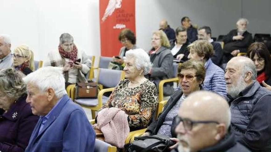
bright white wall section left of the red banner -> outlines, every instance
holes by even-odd
[[[0,14],[0,33],[10,35],[11,49],[29,45],[35,60],[57,49],[64,32],[87,54],[100,54],[98,0],[1,0]]]

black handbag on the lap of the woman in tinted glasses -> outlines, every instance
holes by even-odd
[[[169,147],[176,142],[168,136],[157,134],[154,136],[135,137],[135,141],[129,146],[129,152],[169,152]]]

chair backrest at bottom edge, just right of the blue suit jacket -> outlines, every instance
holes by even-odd
[[[110,144],[103,142],[99,139],[95,139],[94,152],[116,152],[117,147],[111,146]]]

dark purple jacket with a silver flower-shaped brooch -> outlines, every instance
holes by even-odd
[[[22,95],[9,111],[0,115],[0,151],[23,152],[38,122]]]

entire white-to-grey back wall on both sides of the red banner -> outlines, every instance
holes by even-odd
[[[123,0],[124,1],[124,0]],[[270,33],[269,0],[136,0],[137,45],[148,51],[152,31],[166,18],[173,29],[183,16],[198,26],[209,25],[217,37],[248,18],[249,32]],[[59,36],[71,33],[75,44],[89,55],[100,55],[99,0],[1,0],[0,33],[9,34],[12,50],[27,44],[35,60],[57,49]]]

